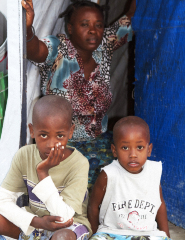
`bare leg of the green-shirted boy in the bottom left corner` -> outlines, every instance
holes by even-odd
[[[0,223],[0,235],[5,235],[15,239],[19,238],[19,234],[21,232],[20,229],[2,215],[0,215]]]

